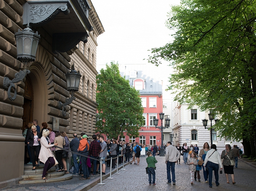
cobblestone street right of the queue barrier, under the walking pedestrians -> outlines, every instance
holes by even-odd
[[[205,190],[217,190],[217,191],[255,191],[255,168],[251,168],[249,165],[240,162],[238,168],[234,168],[235,182],[232,184],[232,179],[229,177],[230,184],[226,183],[226,177],[224,174],[219,174],[219,183],[217,187],[215,185],[215,178],[213,175],[213,186],[209,188],[209,183],[205,183],[203,178],[203,170],[200,171],[201,182],[196,181],[194,185],[190,184],[190,174],[188,171],[188,165],[181,159],[181,164],[175,165],[175,177],[176,185],[166,184],[166,164],[164,163],[165,157],[156,156],[158,163],[156,164],[156,185],[149,185],[148,175],[146,174],[145,167],[147,166],[146,157],[140,157],[140,165],[128,165],[126,170],[121,170],[120,174],[114,174],[114,179],[103,180],[106,185],[96,185],[89,191],[104,191],[104,190],[121,190],[121,191],[166,191],[166,190],[178,190],[178,191],[205,191]],[[230,175],[229,175],[230,176]]]

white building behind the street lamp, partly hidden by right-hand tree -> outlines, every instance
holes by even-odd
[[[202,112],[198,109],[197,106],[194,106],[193,109],[188,109],[188,104],[178,104],[174,102],[173,109],[173,127],[172,132],[174,134],[173,145],[180,143],[182,146],[183,143],[197,144],[199,149],[203,148],[203,144],[210,141],[210,129],[205,129],[202,123],[202,119],[208,119],[207,127],[211,126],[211,121],[208,117],[208,112]],[[215,121],[212,120],[212,126],[214,126]],[[176,137],[177,134],[177,137]],[[236,144],[238,147],[242,146],[240,143],[232,142],[229,137],[218,137],[218,131],[213,130],[213,144],[217,145],[219,153],[225,149],[225,144],[230,144],[233,148],[233,145]]]

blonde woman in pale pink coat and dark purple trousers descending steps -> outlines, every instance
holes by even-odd
[[[47,171],[53,167],[56,163],[56,159],[50,150],[51,147],[57,146],[58,143],[51,144],[50,139],[47,137],[49,135],[49,130],[44,129],[42,132],[42,137],[41,137],[41,149],[39,153],[39,159],[41,162],[44,163],[44,170],[43,170],[43,175],[42,179],[47,180],[45,176],[47,176]]]

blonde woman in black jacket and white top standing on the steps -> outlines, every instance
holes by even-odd
[[[31,122],[30,122],[31,123]],[[32,123],[33,124],[33,123]],[[33,164],[33,169],[36,169],[36,165],[39,166],[38,164],[38,156],[40,152],[40,132],[37,132],[36,126],[32,125],[31,129],[28,129],[28,134],[26,136],[26,143],[29,145],[30,153],[31,153],[31,158],[32,158],[32,164]],[[36,156],[35,156],[35,151],[36,151]]]

